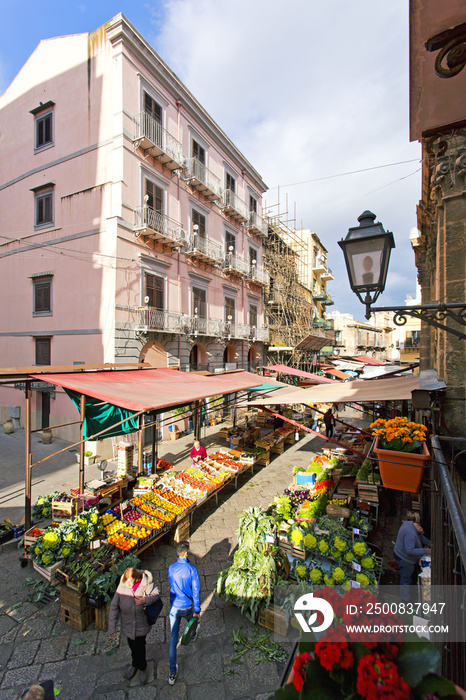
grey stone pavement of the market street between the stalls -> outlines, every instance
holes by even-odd
[[[345,417],[346,420],[346,417]],[[218,428],[205,429],[202,442],[206,447],[225,448],[217,442]],[[24,443],[19,439],[22,431],[12,436],[0,435],[0,454],[7,454],[10,468],[21,463]],[[13,436],[13,437],[14,437]],[[8,451],[3,443],[9,440]],[[24,440],[24,435],[23,435]],[[49,446],[35,445],[38,450],[57,449],[62,441],[54,440]],[[192,436],[176,442],[163,443],[160,456],[186,467]],[[63,443],[64,445],[66,443]],[[3,571],[7,575],[0,580],[0,698],[17,700],[21,692],[38,680],[53,678],[60,689],[60,700],[137,700],[160,697],[164,700],[266,700],[277,687],[283,664],[261,663],[256,665],[253,656],[246,655],[243,663],[231,664],[234,652],[232,631],[243,625],[243,630],[253,625],[239,610],[215,593],[215,583],[220,570],[229,566],[236,546],[238,515],[251,505],[267,506],[274,496],[283,492],[291,482],[294,465],[307,465],[318,454],[325,441],[308,435],[288,447],[268,467],[248,471],[238,478],[238,489],[230,483],[219,494],[218,506],[212,498],[195,511],[191,530],[191,561],[197,567],[201,579],[201,602],[204,611],[201,629],[196,642],[179,648],[179,675],[174,686],[168,678],[168,566],[176,554],[165,538],[142,554],[142,566],[152,571],[154,580],[162,591],[165,607],[162,615],[147,637],[149,680],[146,686],[139,684],[139,674],[131,682],[123,680],[123,672],[129,665],[130,652],[125,639],[117,641],[95,629],[94,623],[84,632],[77,632],[60,622],[59,603],[51,602],[38,608],[25,602],[27,591],[22,587],[26,577],[40,579],[32,568],[22,569],[18,551],[14,545],[4,545],[0,554]],[[16,456],[14,453],[16,445]],[[53,449],[52,449],[53,448]],[[37,485],[33,498],[58,488],[74,486],[77,480],[77,464],[68,452],[54,458],[61,460],[50,473],[35,475]],[[47,463],[45,463],[47,464]],[[92,469],[92,468],[91,468]],[[2,478],[5,469],[2,469]],[[90,477],[93,476],[91,473]],[[11,477],[6,488],[0,489],[0,504],[6,498],[18,499],[22,488],[18,474]],[[23,496],[24,497],[24,496]],[[10,500],[8,500],[10,499]],[[20,503],[20,502],[19,502]],[[19,503],[15,505],[20,508]],[[7,506],[8,507],[8,506]],[[2,517],[4,515],[2,514]],[[167,540],[167,541],[165,541]],[[283,639],[288,652],[291,641]]]

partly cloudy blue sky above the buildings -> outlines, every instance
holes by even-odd
[[[0,94],[41,39],[118,12],[261,174],[270,211],[319,236],[335,278],[328,311],[364,318],[337,241],[366,209],[396,242],[377,305],[415,294],[421,148],[409,142],[406,0],[0,0]]]

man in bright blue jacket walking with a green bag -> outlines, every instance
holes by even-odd
[[[176,546],[178,561],[168,569],[168,581],[170,583],[170,674],[169,685],[174,685],[178,673],[176,663],[176,647],[180,633],[181,618],[188,622],[191,618],[201,618],[201,600],[199,574],[195,567],[189,563],[189,543],[180,542]]]

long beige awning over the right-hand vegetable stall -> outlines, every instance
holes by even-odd
[[[255,405],[268,406],[274,403],[345,403],[356,401],[401,401],[411,399],[411,392],[421,389],[419,377],[394,377],[393,379],[378,379],[376,381],[355,380],[353,382],[338,382],[337,384],[322,384],[307,389],[290,392],[280,390],[275,398],[263,399]]]

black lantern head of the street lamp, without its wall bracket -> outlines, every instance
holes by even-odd
[[[345,240],[338,241],[338,245],[345,255],[351,289],[366,305],[366,318],[370,318],[371,305],[385,289],[395,241],[391,231],[385,231],[380,222],[375,223],[375,214],[371,211],[363,212],[358,221],[359,226],[350,228]]]

